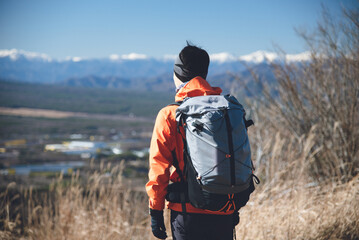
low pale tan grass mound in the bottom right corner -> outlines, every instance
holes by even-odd
[[[241,210],[237,239],[359,239],[359,181],[264,186]]]

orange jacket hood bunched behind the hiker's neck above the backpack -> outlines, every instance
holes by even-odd
[[[195,77],[177,92],[175,101],[183,101],[186,97],[219,95],[221,93],[221,88],[211,87],[211,85],[209,85],[209,83],[202,77]]]

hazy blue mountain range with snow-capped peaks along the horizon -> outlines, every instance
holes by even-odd
[[[66,86],[120,88],[167,91],[173,89],[173,63],[176,56],[151,58],[143,54],[110,55],[101,59],[69,57],[58,60],[46,54],[11,49],[0,50],[0,80]],[[272,78],[271,62],[285,59],[290,62],[309,60],[309,53],[278,56],[257,51],[236,57],[229,53],[210,55],[208,80],[229,90],[232,85],[228,72],[248,78],[251,67]]]

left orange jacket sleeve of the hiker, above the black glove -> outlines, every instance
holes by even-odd
[[[155,210],[162,210],[165,206],[170,167],[172,166],[171,150],[175,147],[175,137],[171,134],[173,120],[169,109],[162,109],[158,113],[152,134],[149,181],[146,184],[146,191],[149,197],[149,207]]]

